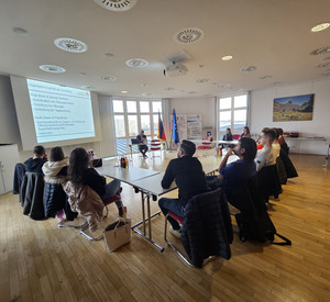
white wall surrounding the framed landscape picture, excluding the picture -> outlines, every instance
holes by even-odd
[[[292,96],[315,93],[312,121],[273,122],[273,100]],[[265,127],[282,127],[298,131],[299,136],[330,137],[330,80],[309,81],[251,92],[251,132],[260,133]],[[297,153],[326,154],[326,142],[292,142],[292,150]]]

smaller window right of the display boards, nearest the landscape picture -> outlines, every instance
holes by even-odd
[[[222,137],[226,128],[233,134],[241,134],[246,125],[248,94],[219,99],[219,127],[218,136]]]

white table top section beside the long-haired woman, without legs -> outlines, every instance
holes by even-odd
[[[120,181],[123,181],[123,182],[127,182],[130,184],[134,180],[147,178],[150,176],[160,174],[158,171],[147,170],[147,169],[143,169],[143,168],[136,168],[136,167],[131,167],[131,166],[129,168],[114,167],[111,164],[96,168],[96,170],[100,175],[116,178]]]

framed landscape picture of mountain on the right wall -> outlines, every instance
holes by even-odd
[[[274,99],[273,122],[311,121],[314,94]]]

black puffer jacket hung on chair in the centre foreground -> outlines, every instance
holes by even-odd
[[[233,232],[223,191],[194,197],[185,208],[182,230],[184,247],[196,267],[201,267],[209,256],[230,259]]]

